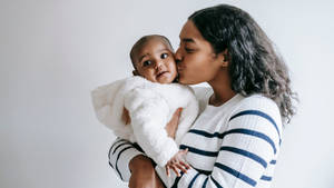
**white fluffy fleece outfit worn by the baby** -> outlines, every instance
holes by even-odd
[[[198,115],[198,102],[188,86],[161,85],[143,77],[130,77],[98,87],[91,92],[98,120],[120,138],[138,142],[147,156],[164,167],[179,150],[178,144]],[[183,108],[175,140],[165,126],[178,108]],[[125,125],[126,108],[131,118]]]

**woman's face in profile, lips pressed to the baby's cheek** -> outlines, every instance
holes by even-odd
[[[214,53],[212,44],[203,38],[193,21],[185,23],[179,38],[180,44],[175,53],[179,82],[196,85],[213,80],[220,69],[220,58]]]

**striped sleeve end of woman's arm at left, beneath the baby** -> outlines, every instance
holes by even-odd
[[[108,155],[109,165],[122,181],[129,181],[131,172],[128,166],[130,160],[138,155],[145,154],[125,139],[117,138],[111,145]]]

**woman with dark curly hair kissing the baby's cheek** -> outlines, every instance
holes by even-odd
[[[180,145],[191,168],[168,187],[269,187],[283,123],[294,115],[285,63],[253,18],[232,6],[196,11],[179,38],[179,82],[210,89],[196,90],[202,113]],[[163,187],[150,159],[129,142],[116,140],[109,158],[129,187]]]

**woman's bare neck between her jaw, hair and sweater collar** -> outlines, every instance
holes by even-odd
[[[209,98],[209,105],[216,107],[222,106],[236,95],[230,88],[227,69],[222,69],[213,80],[208,81],[208,85],[210,85],[214,90],[213,96]]]

